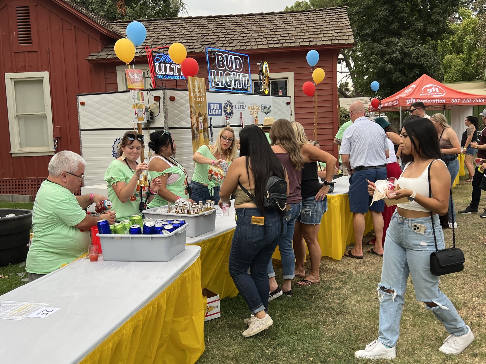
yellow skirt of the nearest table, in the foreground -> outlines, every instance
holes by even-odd
[[[204,352],[205,311],[198,259],[81,364],[193,364]]]

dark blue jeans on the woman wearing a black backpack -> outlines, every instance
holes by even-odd
[[[280,215],[277,211],[265,211],[264,227],[252,223],[255,216],[261,216],[256,208],[236,209],[236,229],[229,252],[229,275],[252,314],[267,311],[270,290],[267,266],[281,240]],[[283,223],[285,232],[285,218]]]

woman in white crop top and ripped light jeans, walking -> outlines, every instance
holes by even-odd
[[[417,300],[425,303],[426,309],[434,313],[450,334],[439,350],[445,354],[459,354],[474,340],[471,329],[451,300],[440,291],[439,277],[430,271],[434,236],[437,247],[444,248],[439,215],[447,213],[451,190],[449,178],[444,178],[449,176],[449,171],[441,160],[434,124],[423,117],[406,123],[401,130],[400,148],[413,157],[413,162],[407,163],[398,180],[401,189],[395,195],[387,193],[387,198],[408,198],[409,202],[397,205],[386,232],[382,279],[377,289],[380,299],[378,340],[356,351],[356,358],[396,357],[409,275],[412,275]],[[374,190],[375,184],[368,182],[370,196]]]

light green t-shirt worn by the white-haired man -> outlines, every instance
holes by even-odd
[[[34,238],[27,254],[27,272],[48,274],[87,253],[89,232],[74,227],[85,217],[86,211],[67,188],[42,182],[32,210]]]

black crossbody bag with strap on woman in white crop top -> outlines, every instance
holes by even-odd
[[[429,197],[432,198],[432,187],[430,183],[430,168],[429,165]],[[450,204],[452,208],[452,188],[450,193]],[[454,229],[454,214],[452,214],[452,248],[441,249],[437,248],[437,239],[435,237],[434,216],[432,211],[430,213],[432,219],[432,232],[434,233],[435,251],[430,254],[430,272],[434,276],[443,276],[444,274],[450,274],[455,272],[461,272],[464,270],[464,253],[461,249],[455,246],[455,229]]]

